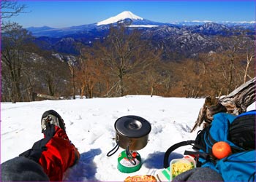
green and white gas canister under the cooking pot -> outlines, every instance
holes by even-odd
[[[140,154],[137,151],[134,151],[136,154],[133,159],[135,160],[136,164],[133,165],[131,162],[129,162],[129,158],[127,157],[127,154],[125,151],[122,151],[118,156],[118,170],[121,173],[133,173],[135,171],[140,170],[141,167],[141,157]],[[134,153],[133,152],[133,153]]]

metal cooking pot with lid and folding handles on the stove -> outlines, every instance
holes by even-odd
[[[127,156],[131,157],[129,151],[143,149],[148,143],[151,124],[140,116],[122,116],[116,120],[115,130],[116,146],[108,152],[107,156],[110,157],[115,154],[121,146],[121,148],[126,149]]]

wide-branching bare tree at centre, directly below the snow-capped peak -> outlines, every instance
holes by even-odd
[[[149,50],[138,31],[124,25],[110,27],[110,34],[103,44],[95,44],[94,51],[118,78],[118,95],[124,95],[124,78],[143,71],[151,60],[157,59],[155,50]]]

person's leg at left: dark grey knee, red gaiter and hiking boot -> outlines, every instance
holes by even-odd
[[[69,141],[64,121],[56,111],[50,110],[42,114],[41,126],[45,138],[34,143],[20,157],[4,162],[1,167],[2,181],[40,181],[41,175],[48,176],[47,180],[50,181],[62,181],[67,168],[78,162],[80,154]],[[37,167],[33,167],[34,165]],[[20,174],[22,178],[18,178]],[[42,181],[45,179],[42,178]]]

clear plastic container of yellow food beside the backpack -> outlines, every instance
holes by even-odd
[[[191,156],[185,156],[182,159],[173,159],[170,161],[170,181],[177,175],[196,167],[195,159]]]

